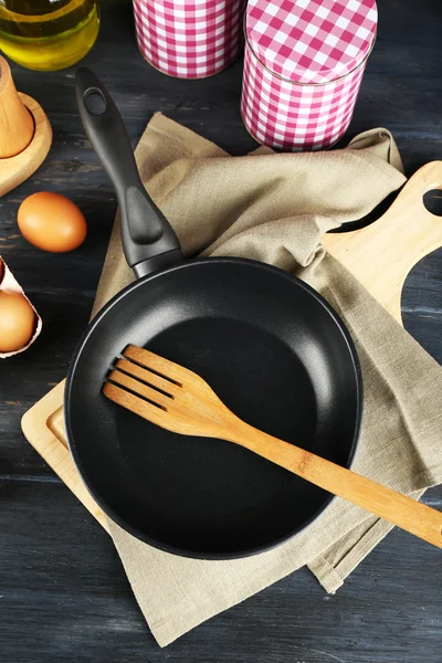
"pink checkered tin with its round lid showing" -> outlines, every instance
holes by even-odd
[[[249,0],[241,113],[250,134],[286,151],[337,143],[377,20],[375,0]]]

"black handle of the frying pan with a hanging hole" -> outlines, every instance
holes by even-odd
[[[128,265],[139,278],[179,262],[178,239],[141,182],[125,125],[106,87],[91,70],[81,67],[75,93],[87,138],[117,193]]]

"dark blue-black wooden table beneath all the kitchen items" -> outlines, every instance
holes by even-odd
[[[379,0],[380,29],[349,135],[392,130],[407,173],[442,158],[440,0]],[[206,81],[175,81],[139,55],[129,0],[102,2],[85,59],[109,86],[134,145],[155,110],[234,155],[254,147],[239,113],[242,63]],[[0,660],[186,663],[439,663],[441,555],[394,530],[327,596],[305,569],[158,648],[110,538],[24,440],[23,412],[66,372],[87,323],[116,208],[76,113],[74,70],[13,66],[19,90],[48,112],[53,147],[42,168],[0,201],[0,253],[44,319],[25,354],[0,366]],[[19,234],[20,202],[39,190],[71,197],[88,219],[81,250],[51,255]],[[441,220],[442,222],[442,220]],[[376,256],[373,256],[376,260]],[[409,332],[442,360],[442,251],[410,274]],[[424,501],[441,508],[442,491]]]

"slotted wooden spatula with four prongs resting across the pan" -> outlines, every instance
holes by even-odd
[[[183,435],[219,438],[442,548],[442,514],[370,478],[267,435],[231,412],[191,370],[128,346],[104,385],[105,396],[147,421]]]

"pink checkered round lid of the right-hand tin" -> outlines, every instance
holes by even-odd
[[[269,70],[295,83],[349,74],[372,46],[376,0],[249,0],[245,34]]]

